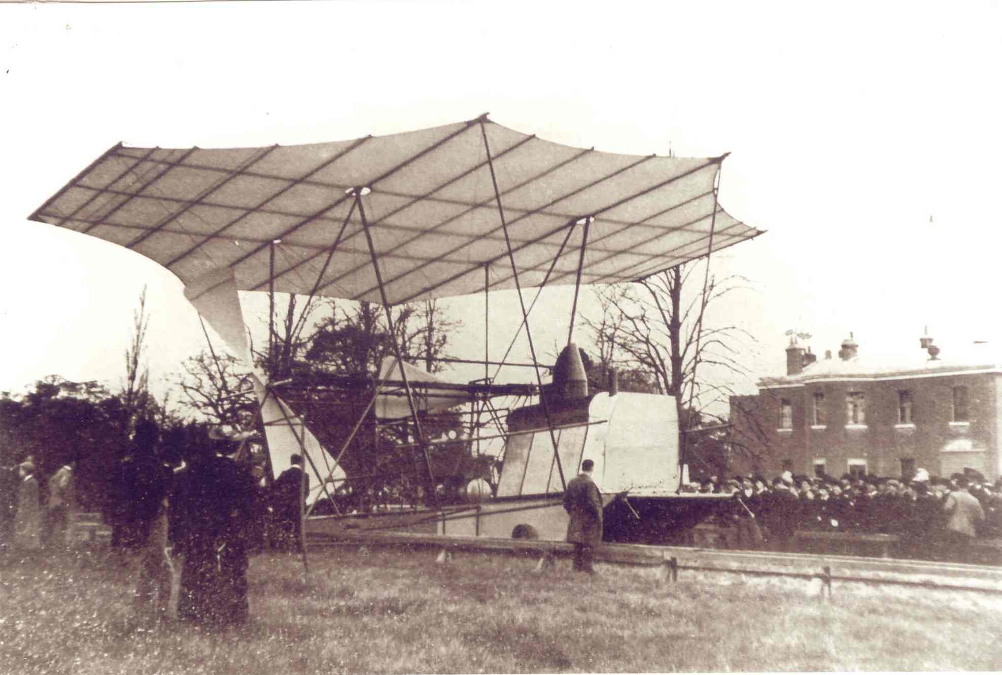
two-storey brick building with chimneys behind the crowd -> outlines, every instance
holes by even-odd
[[[994,480],[1002,361],[985,344],[940,358],[932,342],[890,363],[861,356],[852,336],[823,359],[795,338],[785,376],[730,399],[731,438],[747,452],[732,451],[728,471],[911,477],[970,467]]]

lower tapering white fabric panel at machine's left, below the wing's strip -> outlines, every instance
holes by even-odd
[[[273,477],[278,477],[292,466],[291,457],[294,454],[309,456],[317,468],[326,473],[328,462],[333,462],[333,458],[324,456],[325,450],[320,441],[285,401],[274,393],[268,394],[263,377],[263,374],[250,375],[255,395],[262,406],[261,416],[265,423],[265,435],[268,437],[268,452],[272,458],[272,469],[275,471]],[[306,456],[303,459],[303,468],[313,472],[313,467]],[[317,477],[315,474],[316,479],[312,482],[319,483],[324,477],[327,476]],[[334,477],[336,479],[346,477],[340,465],[334,467]]]

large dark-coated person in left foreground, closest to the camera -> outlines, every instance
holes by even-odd
[[[217,454],[229,441],[190,446],[187,468],[170,497],[170,541],[184,555],[177,618],[210,626],[247,618],[245,530],[254,517],[255,479],[248,467]]]

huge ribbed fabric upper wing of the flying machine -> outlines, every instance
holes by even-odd
[[[379,302],[375,253],[398,304],[481,292],[485,267],[488,290],[514,288],[509,242],[522,286],[573,284],[586,218],[584,284],[755,237],[715,199],[721,160],[569,147],[486,117],[306,145],[118,144],[31,219],[136,251],[185,285],[229,268],[244,291],[267,291],[274,270],[277,291]]]

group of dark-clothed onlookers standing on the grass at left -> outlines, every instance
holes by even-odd
[[[302,459],[269,485],[238,443],[139,420],[109,475],[103,518],[111,555],[134,581],[133,617],[148,629],[166,618],[174,570],[178,620],[239,624],[248,613],[248,555],[298,549],[307,478]],[[0,551],[45,555],[72,544],[73,464],[40,486],[31,456],[0,466]],[[267,525],[266,525],[267,524]]]

